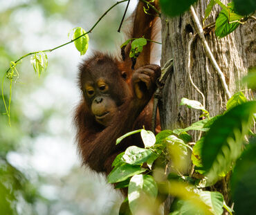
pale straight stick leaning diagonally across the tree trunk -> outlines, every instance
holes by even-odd
[[[226,96],[228,97],[228,99],[230,99],[231,94],[230,94],[230,91],[228,90],[228,85],[226,84],[225,76],[222,73],[221,68],[219,68],[219,65],[217,64],[216,60],[214,59],[214,56],[212,55],[210,47],[209,47],[209,45],[208,45],[208,43],[207,43],[207,41],[204,37],[203,28],[200,24],[199,18],[196,15],[196,12],[194,11],[193,6],[190,6],[190,13],[192,15],[192,19],[194,21],[194,24],[196,25],[199,37],[201,38],[201,40],[203,42],[203,47],[205,49],[205,53],[210,58],[210,61],[212,62],[212,65],[214,66],[215,70],[217,71],[217,73],[219,75],[219,78],[221,80],[221,85],[223,87],[223,90],[224,90]]]

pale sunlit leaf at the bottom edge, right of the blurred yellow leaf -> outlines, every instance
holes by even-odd
[[[199,196],[206,205],[210,206],[213,214],[221,215],[223,213],[224,198],[221,193],[217,191],[202,191]]]

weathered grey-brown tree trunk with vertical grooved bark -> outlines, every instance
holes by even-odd
[[[194,10],[202,23],[204,11],[210,0],[199,0],[194,5]],[[222,1],[228,3],[228,1]],[[210,17],[206,19],[205,26],[216,21],[221,8],[214,6]],[[205,35],[210,50],[217,60],[221,71],[226,77],[226,83],[231,95],[242,89],[238,80],[247,73],[247,68],[255,66],[255,21],[240,26],[230,35],[219,39],[214,30]],[[181,99],[198,100],[203,104],[201,95],[192,86],[188,76],[188,42],[196,34],[196,27],[190,11],[175,18],[162,15],[162,59],[161,65],[169,59],[174,60],[174,69],[167,77],[163,88],[163,99],[159,107],[161,113],[161,128],[174,129],[188,127],[199,120],[200,111],[180,106]],[[190,73],[194,84],[205,95],[205,108],[210,116],[223,113],[226,110],[227,97],[221,86],[217,72],[214,70],[210,59],[206,57],[201,39],[195,37],[191,45]],[[245,92],[246,94],[246,92]],[[196,133],[191,133],[196,141]],[[224,193],[223,193],[224,192]],[[222,191],[228,200],[228,188]],[[167,205],[165,214],[168,214],[170,205]]]

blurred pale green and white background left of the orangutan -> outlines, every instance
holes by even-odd
[[[0,77],[10,61],[68,41],[68,32],[89,30],[116,1],[0,0]],[[136,1],[131,1],[129,13]],[[89,35],[89,51],[114,52],[125,3]],[[0,98],[0,214],[118,214],[122,197],[106,180],[80,166],[72,123],[79,101],[77,65],[84,57],[73,44],[48,55],[39,78],[30,57],[17,66],[12,88],[11,124]],[[6,79],[3,93],[9,97]]]

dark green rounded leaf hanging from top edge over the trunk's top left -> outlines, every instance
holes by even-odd
[[[176,17],[190,8],[197,0],[160,0],[161,10],[170,17]]]

